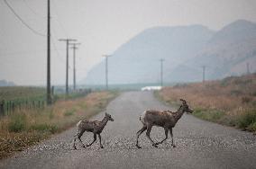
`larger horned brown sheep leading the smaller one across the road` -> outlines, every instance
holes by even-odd
[[[168,138],[168,131],[171,136],[171,146],[175,147],[173,142],[172,128],[175,127],[177,121],[181,118],[185,111],[192,113],[193,110],[188,108],[187,102],[183,99],[180,99],[182,102],[181,106],[178,108],[178,111],[144,111],[140,116],[140,120],[142,121],[143,127],[137,132],[137,142],[136,147],[142,148],[139,146],[138,139],[142,132],[147,129],[147,137],[151,140],[152,146],[157,147],[157,145],[162,144]],[[150,137],[151,128],[153,126],[159,126],[164,128],[165,130],[165,138],[160,142],[154,143]]]

